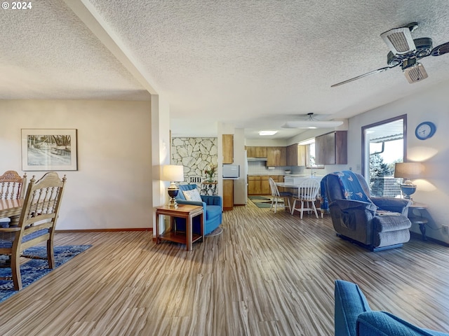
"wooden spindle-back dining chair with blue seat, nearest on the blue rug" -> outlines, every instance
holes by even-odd
[[[61,180],[55,172],[46,173],[39,181],[36,181],[33,176],[27,187],[18,225],[0,228],[0,254],[11,255],[12,273],[12,276],[0,279],[12,279],[15,290],[22,289],[20,257],[46,259],[48,260],[48,268],[55,267],[53,235],[65,181],[65,176]],[[26,248],[42,242],[46,242],[46,258],[22,254]]]

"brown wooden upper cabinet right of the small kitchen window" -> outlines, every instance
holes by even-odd
[[[315,138],[316,165],[347,165],[347,131],[335,131]]]

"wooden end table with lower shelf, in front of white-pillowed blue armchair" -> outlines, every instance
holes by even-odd
[[[159,216],[161,215],[170,216],[170,230],[163,235],[159,235]],[[192,222],[196,216],[201,216],[200,235],[192,233]],[[185,231],[176,229],[175,218],[185,218]],[[190,204],[178,204],[177,208],[156,207],[156,244],[160,244],[161,240],[174,241],[186,244],[187,251],[192,251],[192,244],[200,239],[204,241],[203,207]]]

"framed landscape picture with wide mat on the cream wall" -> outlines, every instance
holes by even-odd
[[[76,130],[22,129],[22,170],[78,170]]]

